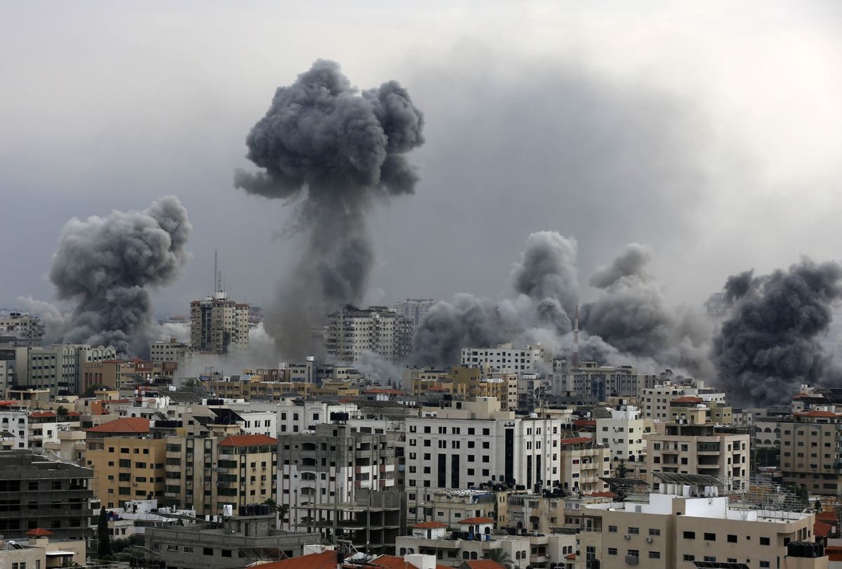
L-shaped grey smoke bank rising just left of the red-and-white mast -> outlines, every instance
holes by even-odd
[[[572,330],[578,297],[576,241],[552,231],[530,234],[509,276],[516,295],[500,303],[457,294],[428,311],[413,338],[413,362],[445,366],[459,362],[462,347],[507,341],[541,341],[553,352]]]

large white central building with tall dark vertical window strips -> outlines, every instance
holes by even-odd
[[[559,480],[559,440],[571,427],[568,419],[501,411],[499,401],[490,397],[425,407],[406,419],[407,490],[464,488],[488,480],[525,486]]]

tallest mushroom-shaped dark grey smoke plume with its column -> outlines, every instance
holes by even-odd
[[[335,62],[319,60],[275,91],[246,139],[264,171],[237,170],[250,194],[301,200],[296,229],[305,248],[269,323],[291,355],[303,355],[312,318],[360,303],[374,252],[366,212],[374,201],[412,194],[418,174],[404,157],[424,143],[424,115],[391,81],[359,92]]]

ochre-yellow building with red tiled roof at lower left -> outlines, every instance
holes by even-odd
[[[163,497],[166,446],[151,437],[148,419],[115,419],[86,432],[85,464],[93,469],[93,493],[104,507]]]

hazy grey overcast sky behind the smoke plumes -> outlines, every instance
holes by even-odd
[[[674,303],[728,275],[839,260],[835,2],[0,4],[0,307],[52,301],[72,217],[178,196],[194,229],[160,314],[266,304],[296,266],[292,208],[233,187],[274,89],[318,58],[424,111],[422,180],[372,212],[371,303],[498,298],[530,233],[589,276],[630,242]]]

